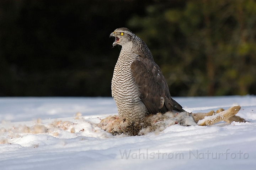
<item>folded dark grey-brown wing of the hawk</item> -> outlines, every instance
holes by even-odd
[[[159,66],[143,54],[138,55],[131,69],[140,88],[140,98],[149,113],[184,111],[182,106],[171,98],[169,87]]]

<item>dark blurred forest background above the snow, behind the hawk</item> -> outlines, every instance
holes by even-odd
[[[173,96],[256,94],[255,0],[0,0],[0,96],[111,96],[119,27]]]

